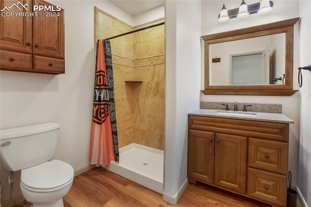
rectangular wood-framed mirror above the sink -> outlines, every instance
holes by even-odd
[[[201,36],[205,47],[202,93],[293,95],[297,91],[293,90],[294,24],[299,19]],[[252,73],[255,66],[260,71]]]

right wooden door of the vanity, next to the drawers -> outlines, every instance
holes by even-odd
[[[246,194],[247,137],[216,133],[214,184]]]

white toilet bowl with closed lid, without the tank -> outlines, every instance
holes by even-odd
[[[71,188],[73,175],[66,162],[44,162],[21,170],[20,190],[33,207],[63,207],[62,199]]]

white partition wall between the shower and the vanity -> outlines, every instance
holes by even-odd
[[[201,2],[166,1],[165,201],[175,204],[188,185],[188,112],[199,108]]]

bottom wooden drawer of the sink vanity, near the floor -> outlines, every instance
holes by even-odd
[[[248,168],[247,196],[286,207],[287,176]]]

